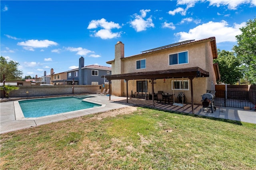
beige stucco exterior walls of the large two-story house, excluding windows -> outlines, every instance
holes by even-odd
[[[188,51],[188,64],[177,64],[169,66],[169,54]],[[123,74],[132,72],[148,72],[155,70],[169,70],[169,69],[179,69],[179,68],[190,68],[190,67],[200,67],[205,71],[208,71],[209,77],[194,78],[193,92],[194,92],[194,104],[202,104],[201,96],[206,93],[206,90],[212,89],[213,85],[216,84],[216,78],[213,68],[212,50],[210,45],[210,40],[199,41],[197,43],[192,43],[188,45],[180,45],[177,47],[172,47],[164,50],[154,51],[151,53],[144,53],[142,55],[126,57],[120,59],[121,57],[115,57],[114,63],[112,63],[112,74]],[[146,59],[145,69],[136,69],[136,61]],[[118,66],[117,66],[118,65]],[[121,69],[123,68],[123,69]],[[146,80],[146,79],[144,79]],[[172,90],[172,80],[182,80],[167,78],[164,83],[163,79],[155,80],[154,92],[164,91],[169,94],[175,94],[175,100],[182,90]],[[184,78],[183,80],[189,81],[189,90],[183,90],[187,102],[191,102],[191,86],[190,80]],[[131,91],[136,92],[136,82],[138,80],[128,81],[128,96],[130,96]],[[148,82],[148,92],[152,94],[152,84]],[[112,80],[112,95],[115,96],[126,96],[126,82],[124,80]]]

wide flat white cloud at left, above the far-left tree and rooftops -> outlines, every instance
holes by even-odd
[[[48,39],[45,40],[40,40],[38,41],[37,39],[30,39],[28,41],[22,41],[17,43],[17,45],[24,46],[23,48],[29,51],[34,51],[34,48],[47,48],[52,45],[58,45],[58,43],[54,41],[49,41]]]

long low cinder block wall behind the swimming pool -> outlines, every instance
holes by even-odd
[[[10,92],[9,94],[10,98],[73,94],[73,88],[70,85],[18,86],[18,87],[19,87],[18,90],[13,90]],[[96,94],[99,91],[100,91],[100,85],[75,85],[74,86],[74,94]]]

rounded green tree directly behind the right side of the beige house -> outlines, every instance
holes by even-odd
[[[225,84],[235,84],[239,78],[243,77],[242,70],[239,67],[240,61],[235,57],[234,52],[218,49],[218,59],[214,59],[214,63],[218,63],[220,70],[220,82]]]

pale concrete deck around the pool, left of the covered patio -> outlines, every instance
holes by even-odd
[[[86,98],[86,101],[100,103],[104,105],[104,107],[93,107],[86,110],[72,111],[68,113],[61,113],[58,115],[51,115],[51,116],[35,118],[35,119],[31,119],[31,118],[26,119],[26,118],[16,117],[17,114],[15,114],[15,110],[17,109],[14,109],[14,105],[15,103],[17,103],[17,101],[1,102],[0,103],[0,106],[1,106],[0,107],[0,133],[16,131],[16,130],[25,129],[28,127],[34,127],[38,125],[65,120],[65,119],[71,119],[74,117],[80,117],[80,116],[89,115],[93,113],[109,111],[112,109],[129,107],[128,105],[118,104],[114,102],[114,101],[126,99],[124,97],[111,96],[111,101],[109,101],[109,96],[99,96],[96,94],[90,94],[88,96],[94,96],[94,98]],[[17,120],[17,118],[20,120]]]

